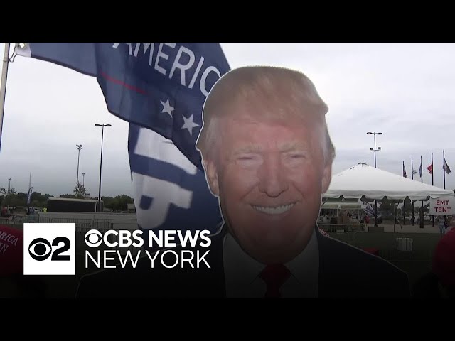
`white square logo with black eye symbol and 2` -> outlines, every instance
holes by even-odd
[[[23,224],[24,275],[75,275],[76,224]]]

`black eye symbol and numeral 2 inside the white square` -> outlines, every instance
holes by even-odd
[[[60,243],[63,243],[63,246],[58,247]],[[52,247],[58,247],[54,251]],[[65,251],[68,251],[71,247],[70,239],[66,237],[57,237],[53,239],[52,244],[47,239],[36,238],[31,241],[28,245],[28,254],[31,258],[36,261],[45,261],[52,254],[51,261],[70,261],[70,255],[63,255]]]

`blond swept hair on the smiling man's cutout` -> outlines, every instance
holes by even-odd
[[[218,136],[216,122],[223,117],[223,107],[241,102],[252,106],[251,114],[264,119],[286,119],[289,115],[311,116],[322,124],[324,161],[332,162],[335,148],[325,120],[328,106],[313,82],[304,73],[284,67],[239,67],[220,77],[210,90],[203,107],[203,127],[196,148],[203,158],[210,155]],[[277,111],[268,110],[271,103]]]

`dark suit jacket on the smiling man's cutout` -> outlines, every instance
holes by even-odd
[[[223,270],[224,233],[212,237],[205,259],[207,269],[166,269],[157,257],[154,268],[148,256],[133,269],[106,269],[81,278],[77,298],[225,298]],[[385,298],[410,297],[410,284],[405,272],[396,266],[331,237],[316,227],[319,243],[319,298]],[[180,254],[182,247],[173,248]],[[206,248],[200,247],[202,256]],[[166,264],[175,263],[169,255]],[[166,257],[165,257],[166,259]],[[129,264],[131,264],[129,262]],[[193,262],[196,264],[196,261]]]

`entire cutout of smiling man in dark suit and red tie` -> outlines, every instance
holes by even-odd
[[[240,67],[220,77],[196,142],[224,220],[210,237],[210,267],[150,269],[144,259],[136,269],[85,276],[78,296],[410,296],[403,271],[319,231],[335,156],[327,112],[296,70]]]

